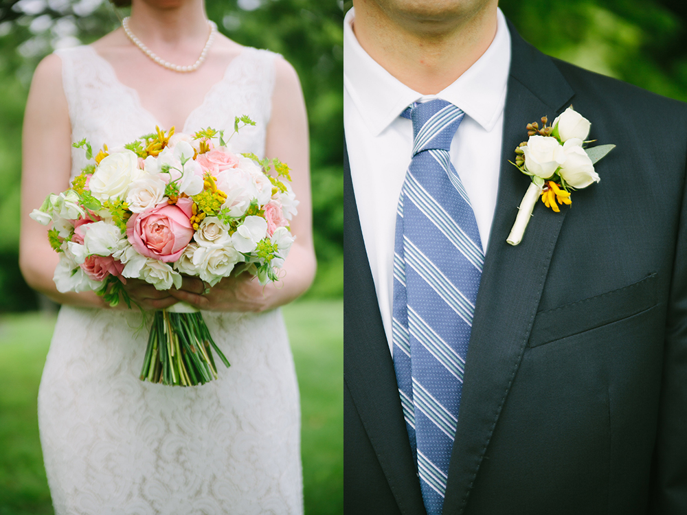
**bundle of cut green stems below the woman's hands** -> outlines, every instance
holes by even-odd
[[[200,312],[156,311],[141,380],[161,385],[204,385],[217,378],[213,349],[229,367],[229,361],[212,340]]]

